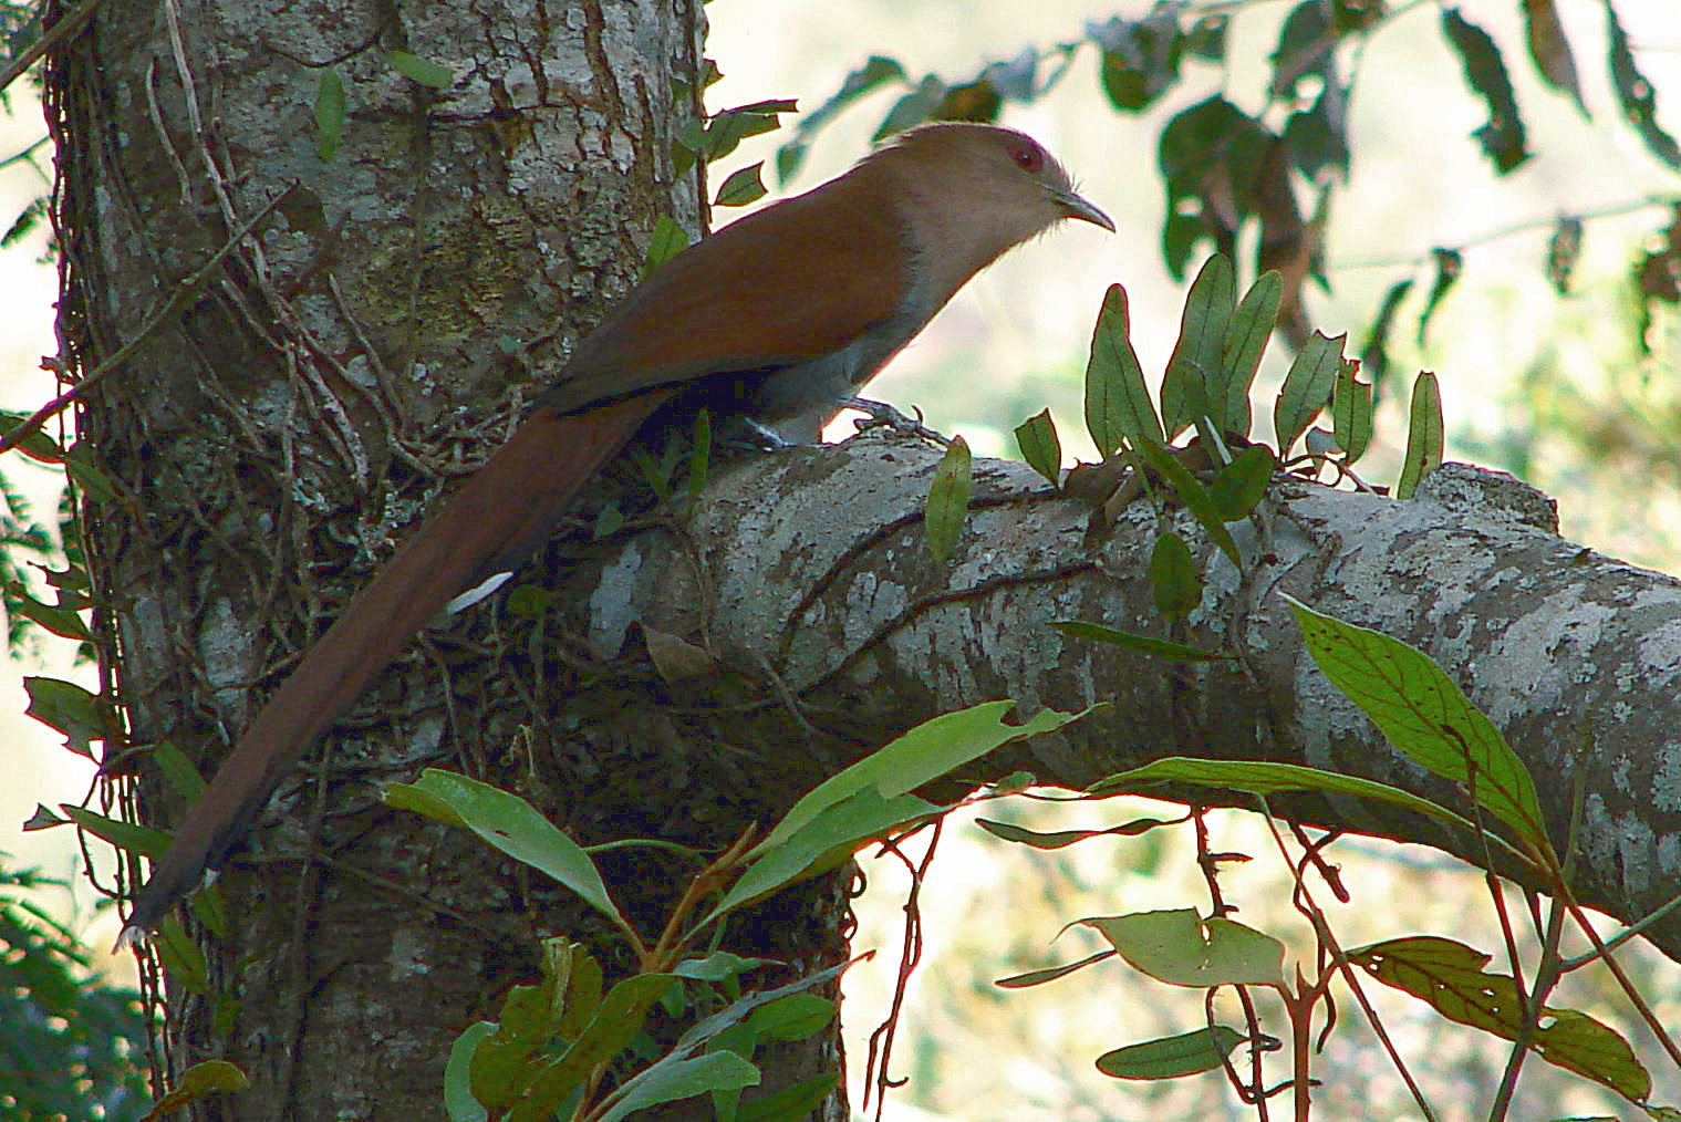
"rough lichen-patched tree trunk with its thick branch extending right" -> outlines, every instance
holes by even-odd
[[[170,741],[212,766],[627,287],[654,218],[698,222],[703,183],[671,153],[696,116],[699,20],[681,0],[335,0],[308,15],[109,0],[57,50],[61,334],[69,375],[101,371],[81,432],[113,492],[86,497],[84,532],[134,747]],[[412,81],[393,50],[447,67],[449,86]],[[343,139],[323,160],[335,82]],[[1042,627],[1150,627],[1148,519],[1093,546],[1083,511],[983,465],[941,569],[916,532],[928,465],[871,438],[719,470],[681,524],[634,519],[558,553],[535,620],[481,613],[417,643],[225,878],[234,922],[205,939],[208,993],[171,981],[171,1065],[245,1068],[256,1088],[213,1109],[225,1117],[440,1117],[454,1035],[531,974],[536,934],[595,924],[466,836],[377,806],[380,781],[429,763],[519,786],[585,840],[716,847],[926,716],[1017,697],[1120,704],[988,761],[1000,774],[1081,784],[1188,752],[1417,784],[1301,658],[1281,586],[1454,668],[1555,821],[1589,727],[1584,895],[1632,917],[1674,883],[1673,581],[1478,497],[1474,474],[1407,504],[1281,484],[1269,529],[1244,537],[1252,574],[1210,559],[1194,620],[1247,677],[1163,674]],[[627,642],[635,621],[740,674],[669,684]],[[143,816],[171,821],[180,800],[140,774]],[[1363,806],[1294,810],[1454,843]],[[649,858],[610,872],[646,922],[677,873]],[[830,880],[778,900],[735,949],[834,962],[842,894]],[[1674,920],[1657,937],[1681,949]],[[832,1067],[837,1046],[775,1058],[768,1085]]]

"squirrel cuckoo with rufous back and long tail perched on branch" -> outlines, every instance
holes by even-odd
[[[703,390],[815,438],[970,277],[1062,218],[1115,230],[1030,138],[945,123],[664,262],[308,650],[153,865],[118,947],[220,865],[286,768],[452,596],[494,590],[541,546],[661,405]]]

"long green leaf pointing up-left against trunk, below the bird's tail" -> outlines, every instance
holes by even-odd
[[[417,783],[393,783],[382,793],[387,806],[466,826],[493,847],[577,892],[620,929],[619,907],[607,895],[595,862],[577,842],[518,794],[451,771],[427,768]]]

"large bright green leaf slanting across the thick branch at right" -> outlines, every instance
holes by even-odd
[[[1518,838],[1548,852],[1535,781],[1499,729],[1441,667],[1400,640],[1286,596],[1313,660],[1414,763],[1466,784]]]

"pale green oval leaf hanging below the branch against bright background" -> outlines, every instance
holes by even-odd
[[[1096,927],[1133,969],[1170,986],[1284,984],[1284,944],[1232,919],[1182,907],[1078,922]]]

